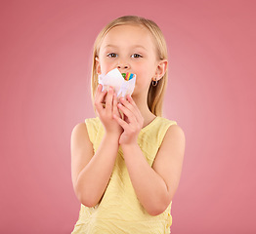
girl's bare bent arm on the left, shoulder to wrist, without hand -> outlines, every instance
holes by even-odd
[[[75,194],[83,205],[94,207],[101,200],[117,150],[118,138],[106,134],[94,154],[85,123],[74,127],[71,135],[72,182]]]

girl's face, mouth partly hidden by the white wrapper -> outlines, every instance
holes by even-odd
[[[118,68],[121,73],[135,73],[136,86],[133,96],[148,92],[152,78],[159,73],[159,59],[149,29],[141,25],[118,25],[105,36],[97,61],[97,73],[107,74]]]

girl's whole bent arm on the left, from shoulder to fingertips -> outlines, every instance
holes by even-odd
[[[103,101],[106,98],[106,108]],[[95,106],[105,127],[105,136],[94,154],[85,123],[74,127],[71,134],[71,171],[72,183],[78,200],[87,207],[94,207],[101,200],[111,176],[118,151],[120,126],[112,118],[118,115],[117,98],[113,90],[102,92],[98,87]]]

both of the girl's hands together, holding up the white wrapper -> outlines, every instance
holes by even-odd
[[[106,98],[106,107],[104,99]],[[117,103],[116,94],[112,88],[102,92],[102,85],[97,88],[95,107],[105,127],[107,135],[119,138],[119,144],[137,143],[137,138],[143,127],[144,118],[133,98],[128,95],[120,98]],[[123,113],[123,116],[120,114]]]

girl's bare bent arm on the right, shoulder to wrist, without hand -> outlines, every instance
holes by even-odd
[[[124,144],[122,149],[138,199],[149,215],[160,215],[179,185],[185,151],[182,129],[177,125],[168,129],[152,168],[138,144]]]

